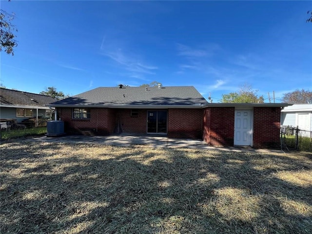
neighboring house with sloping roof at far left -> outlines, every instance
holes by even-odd
[[[20,123],[29,118],[50,117],[51,109],[46,104],[53,101],[54,98],[41,94],[0,88],[0,119],[15,119]]]

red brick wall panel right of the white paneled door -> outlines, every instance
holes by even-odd
[[[254,107],[254,148],[280,147],[279,107]]]

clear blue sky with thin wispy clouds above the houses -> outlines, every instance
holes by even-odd
[[[119,83],[193,85],[214,102],[248,83],[312,90],[312,1],[0,1],[16,14],[1,83],[76,95]]]

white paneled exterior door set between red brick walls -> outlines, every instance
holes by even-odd
[[[235,110],[234,145],[251,145],[251,110]]]

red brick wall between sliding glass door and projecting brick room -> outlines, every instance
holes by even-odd
[[[168,109],[168,137],[202,138],[202,109]]]

